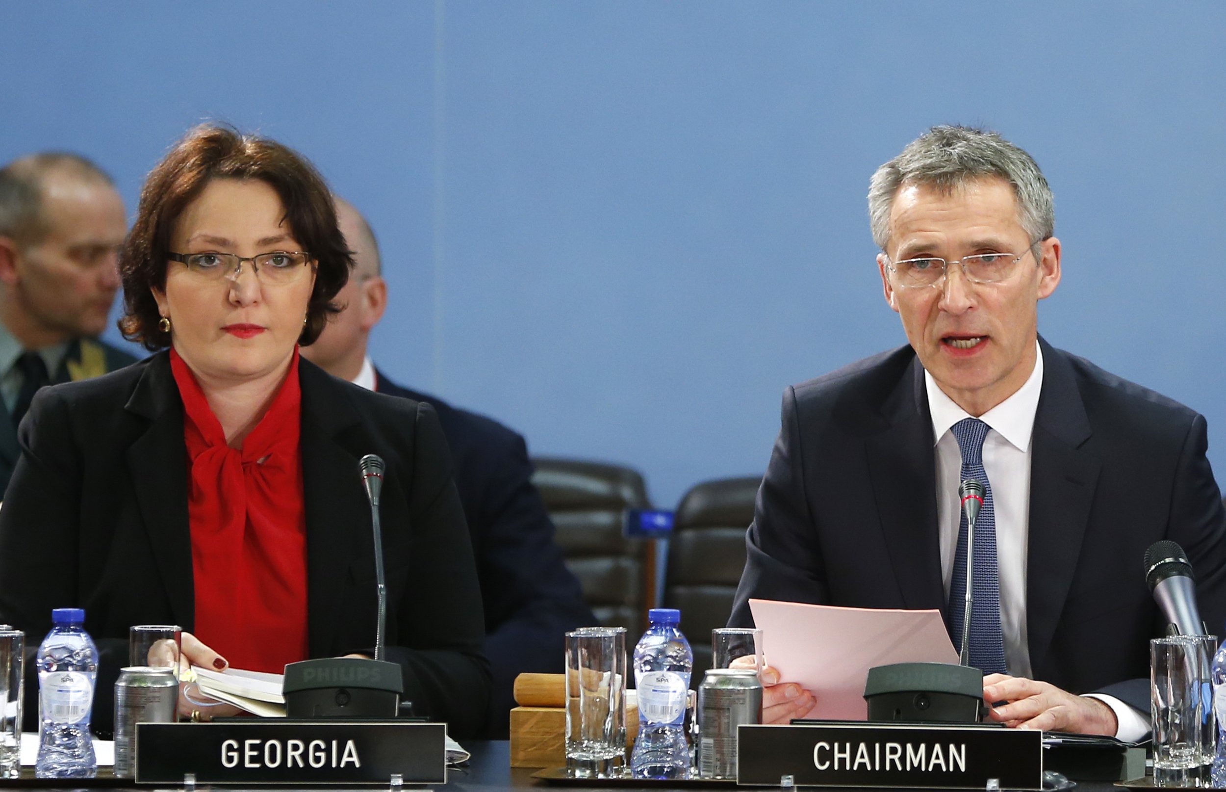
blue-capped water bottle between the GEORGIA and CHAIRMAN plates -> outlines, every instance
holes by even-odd
[[[694,652],[677,629],[682,612],[652,608],[651,626],[634,647],[634,683],[639,691],[639,737],[630,754],[635,779],[688,779],[685,700]]]

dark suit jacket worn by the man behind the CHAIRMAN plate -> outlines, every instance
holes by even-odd
[[[1125,683],[1149,676],[1148,641],[1165,628],[1145,585],[1145,549],[1178,542],[1209,629],[1226,618],[1226,516],[1205,457],[1205,419],[1040,342],[1031,667],[1036,679],[1145,710],[1146,684]],[[749,597],[944,611],[933,444],[911,347],[787,389],[732,623],[752,623]]]

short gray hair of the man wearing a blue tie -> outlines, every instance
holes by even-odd
[[[998,132],[971,126],[933,126],[894,159],[877,169],[868,185],[873,242],[883,251],[890,240],[890,207],[899,188],[923,184],[950,192],[969,181],[999,177],[1013,185],[1018,218],[1036,243],[1056,228],[1052,189],[1035,158]]]

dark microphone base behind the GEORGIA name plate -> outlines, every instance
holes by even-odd
[[[396,663],[364,657],[322,657],[286,666],[286,717],[389,718],[405,691]]]

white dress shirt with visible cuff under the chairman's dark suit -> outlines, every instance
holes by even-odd
[[[958,487],[961,484],[962,452],[950,428],[971,418],[970,413],[945,395],[927,370],[928,411],[932,434],[937,438],[937,525],[940,539],[940,573],[945,600],[954,574],[954,553],[961,524]],[[1043,352],[1035,342],[1035,369],[1026,383],[1009,398],[980,416],[988,424],[983,440],[983,470],[992,487],[996,515],[997,574],[1000,582],[1000,629],[1004,631],[1004,658],[1014,677],[1034,678],[1026,628],[1026,542],[1030,533],[1030,449],[1043,389]],[[1121,739],[1137,741],[1149,732],[1149,720],[1119,699],[1091,694],[1116,712]]]

